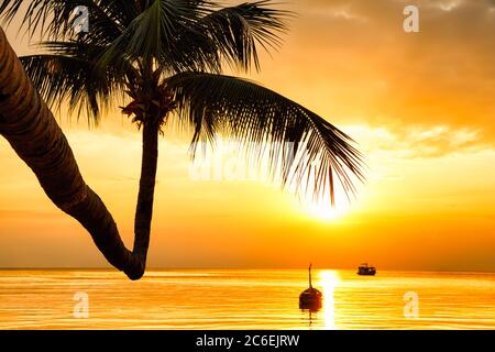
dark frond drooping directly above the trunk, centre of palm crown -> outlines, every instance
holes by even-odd
[[[208,37],[191,30],[200,1],[151,0],[108,47],[100,59],[107,66],[116,57],[155,61],[164,72],[218,70]],[[178,47],[180,43],[182,47]]]

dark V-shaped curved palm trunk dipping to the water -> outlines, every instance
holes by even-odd
[[[129,251],[116,221],[86,185],[73,151],[52,112],[28,78],[0,29],[0,134],[34,172],[50,199],[78,220],[110,264],[131,279],[144,274],[157,160],[157,129],[143,131],[143,175],[135,219],[135,244]]]

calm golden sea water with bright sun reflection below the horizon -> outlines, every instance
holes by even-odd
[[[305,271],[0,271],[0,329],[495,329],[495,274],[315,271],[317,312],[298,307],[307,286]]]

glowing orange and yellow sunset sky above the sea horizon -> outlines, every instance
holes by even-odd
[[[403,29],[419,9],[419,33]],[[190,135],[161,139],[150,267],[495,271],[495,1],[298,0],[284,45],[244,75],[348,132],[366,162],[328,212],[253,179],[197,177]],[[18,54],[35,51],[16,29]],[[141,163],[118,109],[98,128],[58,116],[86,182],[132,248]],[[211,165],[232,155],[217,154]],[[208,161],[206,161],[208,162]],[[0,266],[108,266],[0,139]],[[239,161],[242,164],[242,160]],[[222,166],[222,167],[223,167]]]

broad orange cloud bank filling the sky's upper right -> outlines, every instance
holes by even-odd
[[[447,127],[495,145],[495,1],[306,0],[286,45],[258,80],[338,125]],[[470,142],[471,143],[471,142]],[[444,143],[446,148],[458,146]],[[443,147],[442,147],[443,150]]]

